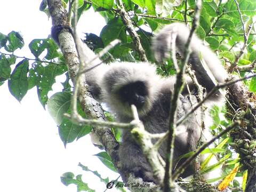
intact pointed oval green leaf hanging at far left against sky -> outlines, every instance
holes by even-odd
[[[8,81],[9,91],[18,101],[21,101],[28,91],[28,66],[28,60],[20,61]]]

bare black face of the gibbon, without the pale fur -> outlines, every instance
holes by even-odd
[[[128,102],[129,105],[135,105],[138,109],[145,104],[148,90],[145,82],[137,81],[123,86],[119,90],[120,98],[123,102]]]

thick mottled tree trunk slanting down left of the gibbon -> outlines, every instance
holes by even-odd
[[[68,26],[67,20],[67,12],[62,6],[60,0],[48,0],[49,11],[52,17],[52,25],[53,26]],[[59,43],[60,49],[63,53],[65,61],[68,66],[68,71],[70,78],[72,79],[73,83],[75,84],[75,76],[77,74],[79,59],[77,56],[75,42],[73,39],[73,35],[70,33],[68,29],[62,29],[59,34]],[[86,115],[92,119],[99,119],[101,121],[105,121],[106,117],[103,113],[103,110],[100,104],[93,99],[90,92],[87,91],[88,86],[83,81],[82,86],[79,90],[79,101],[81,102],[82,108]],[[102,143],[103,147],[113,159],[113,162],[119,170],[120,164],[118,163],[118,154],[117,149],[119,143],[116,141],[113,133],[108,127],[93,127],[93,130],[97,134],[100,142]]]

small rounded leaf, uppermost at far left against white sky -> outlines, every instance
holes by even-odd
[[[21,35],[18,32],[12,31],[6,37],[8,43],[5,44],[4,48],[8,52],[14,52],[18,48],[22,48],[24,46],[24,41]]]

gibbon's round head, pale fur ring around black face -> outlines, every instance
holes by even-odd
[[[161,77],[148,63],[115,63],[101,80],[102,100],[119,117],[132,117],[132,104],[141,117],[157,98],[159,82]]]

